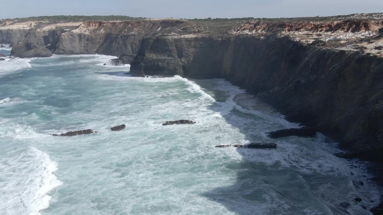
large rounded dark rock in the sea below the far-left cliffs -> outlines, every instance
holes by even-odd
[[[14,46],[11,50],[11,55],[20,58],[51,57],[52,52],[46,47],[39,46],[32,42],[27,42]]]

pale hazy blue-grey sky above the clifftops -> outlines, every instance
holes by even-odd
[[[279,18],[383,12],[383,0],[0,0],[0,19],[48,15]]]

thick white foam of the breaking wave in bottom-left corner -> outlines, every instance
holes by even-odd
[[[11,155],[14,153],[19,155]],[[2,214],[39,215],[49,207],[51,196],[47,193],[62,183],[53,174],[57,164],[47,153],[30,147],[10,151],[0,160],[1,175],[7,176],[0,181]]]

